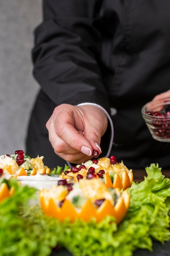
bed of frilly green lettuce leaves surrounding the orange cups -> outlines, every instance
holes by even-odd
[[[132,256],[136,249],[152,250],[153,240],[170,239],[169,179],[158,165],[146,168],[147,177],[128,189],[130,206],[119,225],[107,216],[96,223],[46,216],[39,205],[28,206],[36,190],[14,183],[15,193],[0,203],[0,256],[50,256],[65,247],[74,256]]]

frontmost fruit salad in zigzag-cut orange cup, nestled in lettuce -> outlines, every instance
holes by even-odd
[[[66,180],[50,190],[39,191],[41,208],[48,216],[61,221],[69,218],[74,222],[77,218],[89,222],[95,218],[97,222],[106,216],[113,216],[118,224],[129,208],[130,196],[124,190],[107,188],[101,179],[82,179],[73,184]]]

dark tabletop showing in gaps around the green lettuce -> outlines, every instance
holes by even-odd
[[[170,170],[162,169],[161,171],[163,175],[170,178]],[[133,180],[135,182],[141,182],[142,180],[144,180],[144,176],[147,176],[145,170],[133,170]],[[58,251],[52,251],[52,254],[50,256],[72,256],[72,254],[66,249],[62,248]],[[153,241],[152,252],[146,249],[138,249],[133,253],[133,256],[170,256],[170,241],[164,243],[163,245],[159,242]]]

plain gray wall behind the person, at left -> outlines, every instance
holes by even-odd
[[[41,19],[41,0],[0,0],[0,155],[25,150],[39,89],[32,75],[33,30]]]

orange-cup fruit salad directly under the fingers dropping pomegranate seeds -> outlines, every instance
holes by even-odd
[[[107,187],[126,189],[133,181],[133,171],[123,162],[118,163],[115,156],[92,159],[85,163],[72,166],[65,175],[74,177],[78,182],[82,179],[101,178]]]

